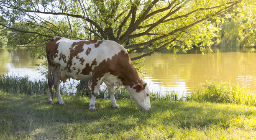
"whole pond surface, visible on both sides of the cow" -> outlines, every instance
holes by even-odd
[[[133,53],[131,57],[141,53]],[[34,59],[25,49],[6,51],[0,49],[0,74],[28,75],[41,77],[37,66],[42,60]],[[256,51],[255,49],[212,48],[204,55],[199,50],[173,56],[162,50],[145,57],[146,74],[150,90],[166,93],[176,91],[187,94],[207,80],[229,81],[251,90],[256,90]]]

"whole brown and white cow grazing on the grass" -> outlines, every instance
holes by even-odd
[[[95,99],[102,81],[108,87],[114,108],[119,108],[114,97],[115,87],[123,85],[140,109],[151,109],[147,83],[139,78],[125,48],[115,41],[54,37],[46,43],[46,54],[49,64],[46,98],[49,104],[53,103],[54,86],[59,104],[65,105],[59,92],[59,81],[72,78],[92,79],[90,111],[95,110]]]

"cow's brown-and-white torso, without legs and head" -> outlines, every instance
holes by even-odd
[[[69,40],[54,37],[46,44],[46,53],[49,65],[61,69],[62,79],[85,80],[92,79],[92,74],[102,75],[111,69],[118,68],[119,73],[125,67],[134,69],[125,48],[115,41]],[[115,61],[111,61],[112,58]],[[119,65],[125,66],[120,68]]]

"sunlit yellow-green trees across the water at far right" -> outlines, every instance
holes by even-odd
[[[254,0],[243,2],[235,14],[221,15],[215,18],[221,29],[216,38],[217,46],[223,48],[256,47],[256,3]]]

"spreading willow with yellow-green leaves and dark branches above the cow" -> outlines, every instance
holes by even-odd
[[[241,1],[0,0],[0,25],[26,33],[23,40],[33,44],[28,48],[35,48],[39,42],[37,47],[44,48],[53,36],[64,36],[113,40],[126,44],[129,53],[144,48],[151,50],[131,58],[136,60],[177,43],[182,44],[184,51],[192,44],[209,46],[216,28],[207,19],[232,13]],[[12,27],[17,22],[29,29]]]

